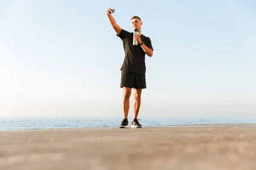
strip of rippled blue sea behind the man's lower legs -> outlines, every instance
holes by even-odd
[[[131,126],[131,118],[129,118]],[[208,125],[208,124],[236,124],[256,123],[253,117],[142,117],[138,118],[143,126],[171,126],[171,125]],[[76,127],[118,127],[122,117],[0,117],[0,131],[31,130],[50,128]]]

